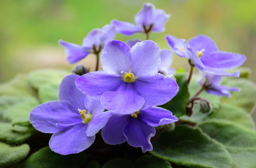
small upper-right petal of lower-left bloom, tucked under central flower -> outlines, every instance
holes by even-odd
[[[101,105],[99,100],[92,99],[90,97],[86,97],[84,99],[84,106],[86,106],[86,110],[94,115],[99,115],[104,111],[104,107]]]

